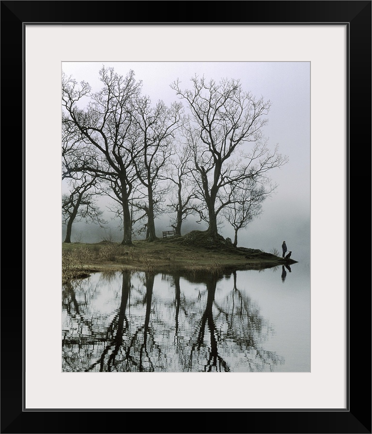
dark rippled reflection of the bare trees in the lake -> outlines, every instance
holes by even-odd
[[[64,372],[267,372],[282,357],[236,273],[100,273],[62,291]]]

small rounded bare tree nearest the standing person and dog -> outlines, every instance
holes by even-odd
[[[238,231],[245,228],[254,217],[262,213],[262,202],[269,197],[276,186],[257,186],[250,178],[232,186],[230,201],[222,210],[223,216],[234,228],[233,246],[238,244]]]

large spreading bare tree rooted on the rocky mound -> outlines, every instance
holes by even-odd
[[[267,172],[287,157],[277,146],[270,152],[263,139],[269,101],[243,92],[239,80],[224,78],[217,84],[195,76],[191,81],[191,90],[181,90],[178,80],[171,87],[190,110],[184,131],[193,150],[193,175],[207,209],[207,231],[217,237],[217,216],[232,202],[232,186],[245,179],[270,182]]]

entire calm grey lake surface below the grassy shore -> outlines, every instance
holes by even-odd
[[[310,266],[70,282],[62,372],[310,372]]]

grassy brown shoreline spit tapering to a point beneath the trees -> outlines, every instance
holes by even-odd
[[[62,278],[87,277],[98,271],[171,272],[259,270],[297,261],[283,259],[259,249],[234,248],[222,237],[211,241],[193,231],[183,237],[133,241],[132,246],[100,243],[62,243]]]

